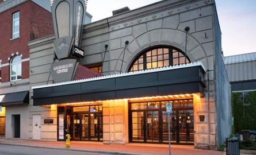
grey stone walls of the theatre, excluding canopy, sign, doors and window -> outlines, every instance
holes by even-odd
[[[187,26],[190,30],[186,46],[184,29]],[[186,55],[192,63],[201,61],[207,71],[205,77],[202,77],[206,83],[204,92],[194,95],[194,145],[196,148],[217,149],[231,132],[231,124],[228,122],[230,90],[220,55],[220,36],[213,0],[161,1],[85,25],[82,48],[86,56],[79,63],[102,63],[103,73],[112,75],[128,72],[133,60],[150,47],[170,45],[187,51]],[[53,40],[54,37],[49,36],[29,42],[32,70],[30,88],[52,83],[49,65],[54,61]],[[128,45],[125,45],[126,41],[129,41]],[[105,48],[105,45],[108,45],[108,48]],[[224,90],[227,96],[221,95]],[[30,106],[33,105],[32,94],[33,90],[30,89]],[[128,142],[127,105],[125,100],[103,103],[104,144]],[[199,115],[204,115],[205,120],[199,121]],[[223,115],[225,117],[221,119]],[[56,115],[52,115],[52,118],[55,117]],[[225,128],[220,126],[223,124]],[[52,133],[53,137],[54,135],[55,133]]]

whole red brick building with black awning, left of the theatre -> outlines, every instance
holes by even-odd
[[[28,139],[28,42],[54,33],[52,17],[33,1],[13,0],[0,1],[0,19],[0,134]]]

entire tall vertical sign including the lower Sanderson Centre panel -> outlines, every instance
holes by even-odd
[[[84,57],[85,52],[80,45],[85,12],[84,0],[55,0],[52,5],[54,51],[56,59],[59,60],[51,65],[55,83],[72,80],[77,69],[77,60]]]

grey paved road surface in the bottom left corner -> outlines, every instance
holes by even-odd
[[[1,155],[103,155],[100,153],[75,152],[58,149],[30,148],[24,146],[0,145]]]

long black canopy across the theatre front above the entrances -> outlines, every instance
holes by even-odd
[[[201,66],[146,72],[33,89],[33,105],[200,93]]]

